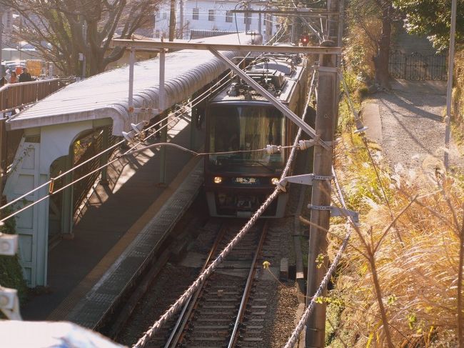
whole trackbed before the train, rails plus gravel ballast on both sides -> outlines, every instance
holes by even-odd
[[[275,224],[276,220],[271,220]],[[264,260],[278,264],[281,230],[261,220],[223,260],[201,289],[146,344],[150,348],[268,347],[277,283],[262,273]],[[156,321],[241,229],[240,220],[210,219],[181,260],[171,260],[152,281],[138,314],[114,337],[131,344]],[[186,255],[186,256],[185,256]],[[192,256],[193,255],[193,256]],[[156,289],[158,288],[158,289]],[[267,327],[266,327],[267,325]],[[271,324],[272,325],[272,324]],[[135,337],[131,338],[134,335]]]

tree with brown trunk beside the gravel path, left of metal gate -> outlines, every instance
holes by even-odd
[[[364,53],[370,54],[368,59],[373,62],[375,82],[385,89],[390,89],[388,59],[393,15],[391,0],[353,0],[348,6],[350,29],[362,31],[368,41],[369,47]],[[360,40],[360,37],[355,39]]]

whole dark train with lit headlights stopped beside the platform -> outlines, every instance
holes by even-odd
[[[246,74],[295,114],[303,114],[308,61],[299,54],[266,54],[246,62]],[[211,217],[251,217],[276,187],[289,149],[275,154],[267,145],[291,145],[297,126],[236,76],[206,102],[204,192]],[[288,194],[263,213],[280,218]]]

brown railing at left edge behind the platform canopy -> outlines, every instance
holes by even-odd
[[[69,84],[64,79],[45,79],[0,87],[0,113],[34,104]]]

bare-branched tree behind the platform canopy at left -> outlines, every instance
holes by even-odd
[[[0,0],[21,15],[22,25],[11,39],[32,44],[66,75],[81,75],[79,53],[87,74],[104,71],[123,55],[111,39],[128,39],[153,22],[153,0]]]

